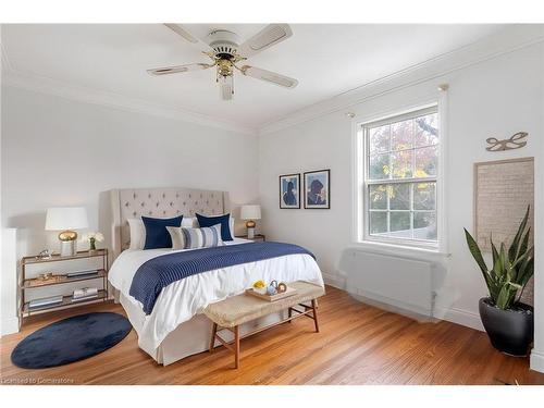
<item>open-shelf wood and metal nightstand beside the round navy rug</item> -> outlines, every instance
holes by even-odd
[[[85,260],[92,262],[94,267],[90,270],[84,269],[82,271],[82,262]],[[78,265],[78,268],[74,265]],[[33,267],[39,271],[44,271],[49,276],[40,279],[40,274],[36,271],[28,273],[28,269]],[[35,312],[53,311],[69,306],[81,306],[108,300],[108,249],[78,251],[67,257],[60,255],[53,255],[50,258],[24,257],[21,260],[21,323],[23,323],[25,317],[29,317]],[[62,272],[57,272],[55,270],[61,270]],[[90,281],[95,281],[92,285],[99,288],[96,296],[74,299],[72,295],[66,294],[67,289],[85,287],[86,284],[90,284]],[[79,284],[74,285],[74,283]],[[101,288],[99,287],[99,283],[101,283]],[[69,286],[67,288],[66,285]],[[28,296],[28,292],[36,289],[46,289],[46,292],[49,292],[49,295]],[[54,295],[51,296],[51,294]],[[30,306],[30,301],[28,301],[28,298],[44,300],[50,297],[57,297],[59,300],[57,302],[44,302],[40,306]]]

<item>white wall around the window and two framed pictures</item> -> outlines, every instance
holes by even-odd
[[[338,271],[338,262],[343,251],[353,246],[353,123],[395,113],[418,101],[437,100],[437,85],[447,83],[446,238],[452,255],[442,261],[447,274],[437,287],[436,310],[448,320],[481,327],[478,299],[485,295],[485,287],[462,232],[463,226],[471,230],[473,225],[473,163],[530,156],[536,157],[537,163],[543,160],[543,55],[542,44],[530,46],[261,135],[259,175],[264,233],[271,239],[308,247],[317,255],[325,279],[342,286],[345,276]],[[345,116],[347,111],[357,114],[353,121]],[[529,133],[526,148],[485,150],[487,137],[506,138],[520,131]],[[280,210],[277,176],[319,169],[331,169],[331,210]],[[542,206],[536,211],[542,211]]]

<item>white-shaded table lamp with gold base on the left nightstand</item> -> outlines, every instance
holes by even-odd
[[[73,230],[88,227],[87,211],[83,207],[53,207],[47,209],[46,231],[61,231],[61,257],[76,252],[77,233]]]

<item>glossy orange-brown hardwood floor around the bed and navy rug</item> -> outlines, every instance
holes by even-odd
[[[15,345],[29,333],[86,311],[115,311],[119,305],[32,318],[17,334],[1,339],[1,383],[67,384],[544,384],[528,358],[496,351],[485,333],[449,322],[419,323],[360,304],[327,287],[320,299],[321,333],[298,319],[242,342],[242,367],[219,348],[168,367],[138,348],[136,333],[87,360],[45,370],[11,363]]]

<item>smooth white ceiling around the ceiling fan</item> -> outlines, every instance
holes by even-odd
[[[205,38],[226,28],[248,38],[263,24],[188,25]],[[207,62],[157,25],[3,25],[2,47],[18,73],[114,92],[214,120],[259,128],[310,104],[472,44],[503,25],[292,25],[293,37],[248,63],[295,77],[284,89],[235,76],[235,99],[222,101],[214,70],[153,77],[147,69]]]

